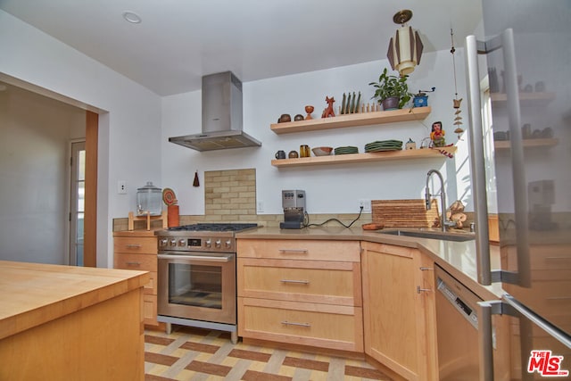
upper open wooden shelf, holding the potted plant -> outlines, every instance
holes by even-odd
[[[337,115],[333,118],[316,118],[310,120],[288,121],[285,123],[273,123],[270,128],[279,135],[294,132],[318,131],[330,128],[371,126],[375,124],[395,123],[399,121],[424,120],[431,111],[432,109],[426,106],[386,112],[363,112]]]

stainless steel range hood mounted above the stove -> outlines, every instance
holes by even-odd
[[[203,77],[203,132],[169,137],[171,143],[197,151],[259,147],[261,142],[242,130],[242,82],[230,72]]]

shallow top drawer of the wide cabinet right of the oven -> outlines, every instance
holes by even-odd
[[[359,241],[322,241],[315,239],[237,240],[238,258],[274,258],[313,261],[360,261]]]

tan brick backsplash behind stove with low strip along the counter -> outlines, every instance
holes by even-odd
[[[204,172],[204,215],[181,215],[180,225],[198,222],[256,222],[264,227],[277,228],[283,214],[256,214],[256,170],[209,170]],[[310,223],[319,224],[327,219],[340,219],[349,225],[358,213],[310,214]],[[371,222],[370,213],[363,213],[353,226]],[[144,228],[145,224],[135,228]],[[153,222],[160,228],[161,222]],[[327,226],[340,226],[335,221]],[[113,219],[113,231],[127,230],[128,219]]]

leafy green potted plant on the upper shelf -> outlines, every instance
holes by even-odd
[[[408,104],[412,98],[407,79],[409,79],[407,75],[401,77],[390,75],[385,68],[378,82],[371,82],[368,85],[377,88],[373,98],[376,98],[379,104],[383,104],[383,110],[396,110]]]

